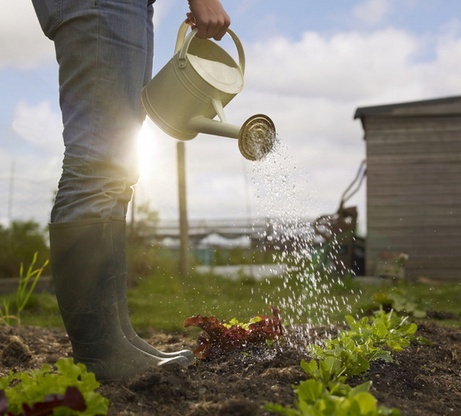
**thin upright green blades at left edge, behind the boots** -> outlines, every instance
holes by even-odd
[[[41,267],[35,268],[38,253],[34,253],[32,261],[24,272],[24,265],[21,263],[19,268],[19,283],[15,293],[15,312],[10,312],[10,301],[3,299],[3,311],[0,309],[0,324],[11,325],[12,320],[16,320],[17,324],[21,324],[21,313],[27,306],[32,293],[37,286],[38,280],[43,273],[43,270],[48,265],[48,260],[45,260]]]

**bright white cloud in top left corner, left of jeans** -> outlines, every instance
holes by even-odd
[[[0,13],[0,68],[34,68],[54,59],[30,0],[2,1]]]

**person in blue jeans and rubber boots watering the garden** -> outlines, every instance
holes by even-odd
[[[126,213],[137,182],[142,87],[151,79],[155,0],[32,0],[59,65],[65,145],[49,225],[53,283],[76,362],[125,380],[189,350],[164,353],[135,333],[126,298]],[[189,0],[187,21],[220,40],[219,0]]]

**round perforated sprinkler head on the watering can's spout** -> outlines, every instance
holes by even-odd
[[[240,129],[238,144],[240,153],[248,160],[261,160],[274,147],[275,125],[264,114],[251,116]]]

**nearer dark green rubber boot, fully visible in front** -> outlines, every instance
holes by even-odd
[[[132,345],[120,325],[112,222],[50,225],[53,283],[73,357],[99,381],[126,380],[147,368],[187,364]]]

